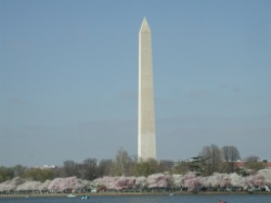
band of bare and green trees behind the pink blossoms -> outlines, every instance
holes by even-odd
[[[56,168],[29,168],[22,165],[14,167],[0,167],[0,182],[14,177],[29,180],[46,181],[56,177],[70,177],[93,180],[103,176],[150,176],[156,173],[186,174],[196,172],[201,176],[209,176],[214,173],[237,173],[247,175],[245,169],[240,168],[235,163],[241,160],[238,150],[233,145],[225,145],[221,149],[216,144],[204,147],[197,156],[189,161],[139,161],[130,156],[124,149],[119,149],[114,160],[86,158],[82,163],[67,160],[63,166]],[[246,168],[259,170],[264,166],[258,162],[257,156],[246,158]]]

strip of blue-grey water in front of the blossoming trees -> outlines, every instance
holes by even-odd
[[[271,203],[271,194],[183,194],[183,195],[105,195],[76,198],[0,198],[2,203]]]

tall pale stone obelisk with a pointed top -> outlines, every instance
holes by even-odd
[[[152,33],[143,18],[139,31],[139,129],[138,157],[156,160]]]

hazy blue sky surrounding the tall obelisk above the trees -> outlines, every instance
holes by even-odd
[[[0,165],[137,155],[144,16],[158,158],[271,161],[271,1],[0,0]]]

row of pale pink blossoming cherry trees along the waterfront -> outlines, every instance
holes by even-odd
[[[271,169],[259,170],[255,175],[243,177],[233,174],[214,174],[211,176],[196,176],[195,173],[185,175],[154,174],[149,177],[102,177],[93,181],[77,177],[55,178],[44,182],[13,178],[0,183],[0,192],[4,191],[78,191],[103,187],[106,190],[124,189],[154,189],[154,188],[186,188],[196,191],[201,188],[231,188],[240,187],[247,190],[251,187],[271,187]]]

